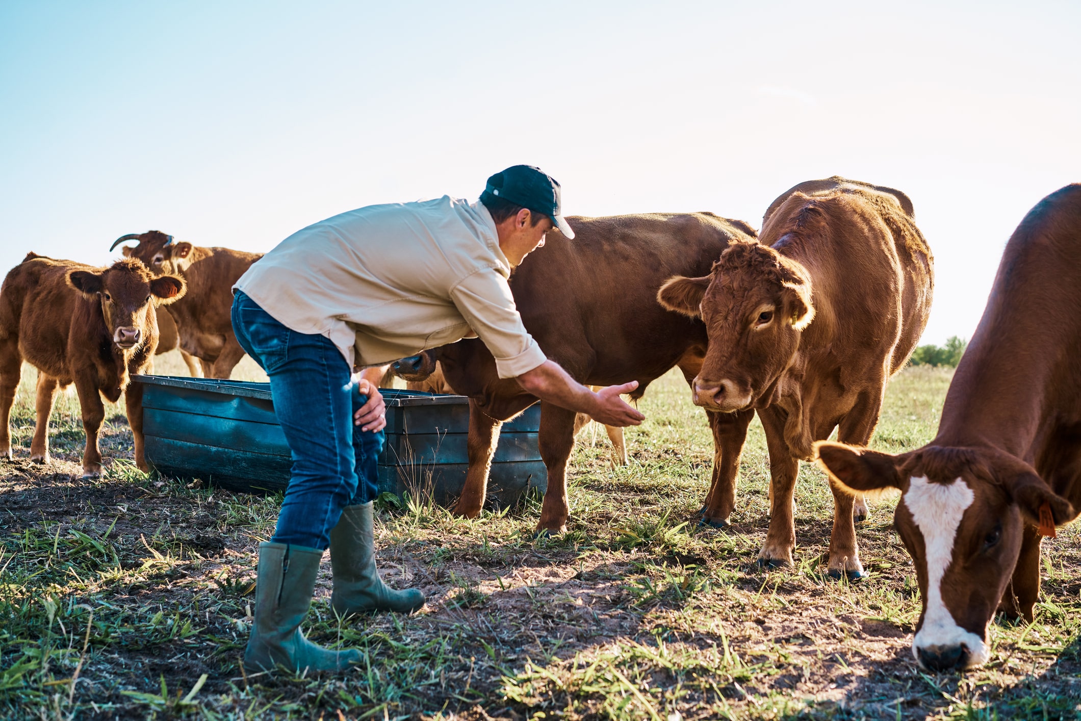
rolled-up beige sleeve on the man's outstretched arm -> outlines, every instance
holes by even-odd
[[[525,330],[510,285],[496,269],[485,268],[467,276],[451,289],[451,299],[492,351],[501,378],[517,377],[548,360]]]

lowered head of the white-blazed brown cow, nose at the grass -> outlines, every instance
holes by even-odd
[[[997,611],[1032,618],[1040,509],[1053,523],[1075,512],[1030,466],[995,449],[929,445],[892,456],[820,442],[816,451],[852,493],[902,492],[894,524],[916,562],[923,611],[912,654],[923,666],[978,666]]]

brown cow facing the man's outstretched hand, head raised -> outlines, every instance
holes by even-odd
[[[837,181],[812,182],[812,195],[797,186],[775,203],[758,241],[733,243],[710,275],[672,278],[657,294],[665,307],[706,322],[695,404],[757,410],[762,419],[771,516],[758,558],[766,565],[792,560],[799,462],[837,427],[843,441],[870,439],[886,382],[931,309],[931,251],[905,205],[873,186]],[[728,470],[706,498],[706,522],[726,523],[733,510],[736,469]],[[857,578],[853,497],[835,488],[833,500],[827,570]]]

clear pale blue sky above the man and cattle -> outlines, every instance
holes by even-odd
[[[515,163],[569,214],[755,227],[840,174],[912,198],[942,343],[1081,181],[1079,38],[1078,2],[3,0],[0,271],[151,228],[265,251]]]

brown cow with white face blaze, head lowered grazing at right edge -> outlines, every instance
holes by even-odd
[[[934,440],[892,456],[837,443],[819,464],[854,493],[899,490],[916,562],[912,653],[987,660],[996,611],[1032,620],[1040,543],[1081,510],[1081,184],[1033,208],[1006,243]]]

